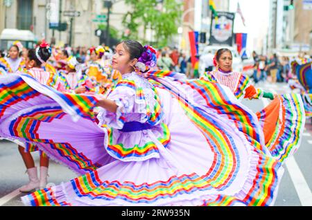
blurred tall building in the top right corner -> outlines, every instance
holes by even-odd
[[[311,8],[304,0],[271,0],[268,51],[309,51],[312,30]],[[293,5],[291,5],[293,3]]]

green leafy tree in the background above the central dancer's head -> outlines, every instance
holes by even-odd
[[[176,0],[125,0],[132,6],[132,10],[123,17],[123,25],[130,30],[130,34],[123,35],[123,39],[139,39],[139,27],[144,27],[145,43],[163,47],[168,44],[168,39],[177,34],[182,16],[182,3]],[[155,34],[155,42],[146,42],[146,30],[151,29]]]

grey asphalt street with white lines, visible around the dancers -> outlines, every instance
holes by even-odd
[[[260,82],[258,88],[279,94],[290,93],[286,84],[270,84]],[[243,100],[243,104],[256,112],[263,109],[268,100]],[[0,141],[0,205],[20,206],[18,188],[28,182],[26,168],[17,150],[17,145],[5,140]],[[33,153],[36,165],[39,155]],[[295,156],[284,165],[285,172],[281,178],[275,206],[311,206],[312,205],[312,124],[306,120],[304,136]],[[75,178],[76,174],[67,167],[51,161],[49,167],[49,183],[60,184]]]

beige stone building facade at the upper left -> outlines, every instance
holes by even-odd
[[[55,40],[55,44],[63,45],[71,42],[72,46],[96,46],[99,37],[95,30],[106,21],[94,21],[96,15],[107,15],[107,8],[102,0],[10,0],[10,7],[3,5],[0,0],[0,33],[3,28],[31,30],[38,40],[47,42]],[[58,14],[58,21],[67,24],[67,30],[58,31],[49,27],[53,4],[58,4],[62,13]],[[56,7],[56,8],[58,8]],[[80,12],[79,17],[67,17],[64,12]],[[124,1],[112,5],[110,26],[120,33],[124,31],[122,20],[128,6]]]

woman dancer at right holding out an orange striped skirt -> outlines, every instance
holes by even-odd
[[[301,98],[295,94],[273,95],[256,89],[247,75],[232,71],[232,53],[226,48],[217,51],[214,64],[217,70],[205,73],[202,80],[218,82],[229,87],[236,98],[240,100],[242,98],[273,100],[268,107],[256,113],[263,127],[266,146],[272,156],[283,161],[288,154],[297,151],[300,139],[296,137],[300,136],[300,132],[302,132],[297,127],[304,118],[298,114],[302,111]],[[289,140],[294,141],[289,142]]]

